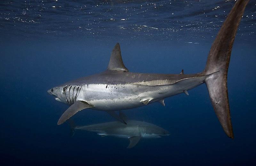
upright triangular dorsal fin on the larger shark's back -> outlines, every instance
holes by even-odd
[[[119,43],[116,43],[108,63],[108,70],[129,71],[125,66],[121,55]]]

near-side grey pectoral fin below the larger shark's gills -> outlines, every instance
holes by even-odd
[[[75,115],[78,111],[91,107],[94,106],[88,104],[86,101],[76,101],[60,116],[60,119],[57,124],[60,125],[64,123],[67,119],[69,119],[71,116]]]

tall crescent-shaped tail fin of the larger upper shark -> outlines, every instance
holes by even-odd
[[[236,31],[249,0],[238,0],[215,38],[208,55],[204,74],[212,106],[228,137],[234,138],[231,124],[227,74]]]

